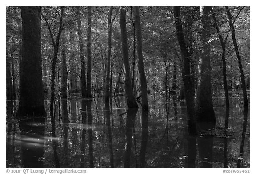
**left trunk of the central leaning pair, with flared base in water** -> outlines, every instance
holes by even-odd
[[[128,108],[138,108],[138,104],[135,100],[133,91],[132,91],[132,82],[131,82],[131,73],[128,57],[128,44],[127,44],[127,35],[126,35],[126,10],[124,7],[121,8],[120,13],[120,28],[121,28],[121,39],[122,39],[122,54],[124,62],[124,73],[125,73],[125,93],[127,96],[127,105]]]

